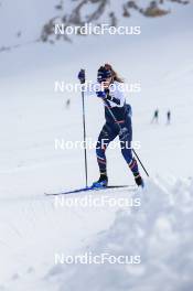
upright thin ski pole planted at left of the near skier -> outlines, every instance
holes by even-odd
[[[85,74],[85,71],[82,69],[83,73]],[[81,82],[82,84],[85,83],[85,79]],[[85,94],[82,88],[82,108],[83,108],[83,133],[84,133],[84,158],[85,158],[85,182],[86,182],[86,187],[88,186],[88,166],[87,166],[87,149],[86,149],[86,118],[85,118]]]

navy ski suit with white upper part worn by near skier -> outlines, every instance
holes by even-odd
[[[124,93],[118,88],[118,82],[114,83],[114,90],[109,87],[106,90],[105,99],[105,119],[96,146],[96,155],[100,174],[107,172],[106,149],[109,143],[118,136],[120,141],[121,153],[128,163],[133,175],[139,173],[136,159],[132,157],[132,123],[131,107],[126,104]]]

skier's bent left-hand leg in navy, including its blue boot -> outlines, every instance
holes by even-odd
[[[117,134],[118,132],[116,132],[114,127],[108,123],[105,123],[105,126],[103,127],[99,133],[97,146],[96,146],[96,155],[97,155],[100,177],[96,183],[99,183],[101,181],[106,181],[106,184],[108,183],[107,160],[106,160],[105,152],[110,141],[112,141],[117,137]]]

